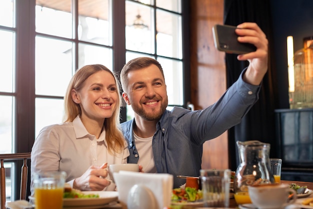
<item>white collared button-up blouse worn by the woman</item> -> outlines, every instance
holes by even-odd
[[[127,163],[128,156],[126,141],[121,153],[109,154],[105,130],[96,139],[88,133],[77,115],[72,122],[53,124],[40,130],[31,150],[31,173],[65,171],[66,182],[72,186],[74,178],[81,176],[91,165]],[[104,190],[114,189],[115,184],[111,183]],[[31,182],[31,194],[33,190]]]

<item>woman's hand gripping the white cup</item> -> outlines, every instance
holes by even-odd
[[[89,191],[89,190],[103,190],[111,182],[105,177],[108,174],[107,163],[101,166],[91,165],[80,177],[75,178],[73,188]]]

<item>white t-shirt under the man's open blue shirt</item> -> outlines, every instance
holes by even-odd
[[[135,138],[136,148],[139,154],[138,164],[142,165],[143,172],[156,172],[156,167],[154,164],[153,151],[152,151],[152,138],[141,138],[133,133]],[[139,151],[140,150],[140,151]]]

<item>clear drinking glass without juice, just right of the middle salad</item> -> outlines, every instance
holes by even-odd
[[[230,169],[201,169],[200,178],[204,206],[228,207]]]

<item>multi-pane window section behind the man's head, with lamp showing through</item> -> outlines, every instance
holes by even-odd
[[[164,71],[168,105],[183,106],[181,1],[137,1],[125,4],[126,62],[138,56],[156,58]],[[126,114],[127,120],[133,118],[130,105]]]

